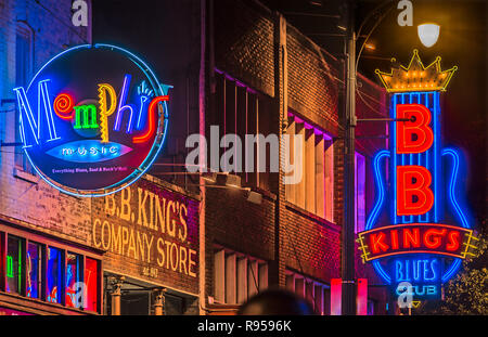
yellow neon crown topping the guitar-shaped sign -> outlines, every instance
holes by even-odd
[[[391,62],[396,62],[391,59]],[[419,51],[413,50],[413,56],[409,66],[391,68],[391,73],[383,73],[378,69],[375,73],[385,86],[388,92],[406,92],[406,91],[446,91],[452,75],[458,69],[453,66],[448,70],[440,69],[440,56],[436,57],[431,65],[424,67],[419,57]]]

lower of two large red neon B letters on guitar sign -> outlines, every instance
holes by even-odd
[[[431,172],[425,167],[398,166],[397,215],[419,216],[429,211],[434,205],[434,193],[428,187],[431,182]]]

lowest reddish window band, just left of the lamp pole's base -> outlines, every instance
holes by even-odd
[[[330,314],[330,287],[305,275],[286,271],[285,288],[305,298],[317,314]]]

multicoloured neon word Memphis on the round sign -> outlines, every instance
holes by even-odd
[[[51,102],[48,86],[50,80],[39,81],[37,102],[41,104],[37,106],[37,115],[33,113],[24,88],[15,88],[22,117],[21,134],[24,138],[24,147],[61,140],[54,115],[61,122],[72,122],[73,129],[81,137],[92,138],[100,134],[100,143],[106,144],[110,142],[111,132],[108,116],[115,114],[112,131],[120,132],[123,120],[126,119],[123,132],[127,134],[138,132],[139,134],[131,139],[133,143],[147,142],[156,132],[155,108],[158,103],[168,101],[169,98],[168,95],[153,98],[153,91],[147,89],[145,81],[142,81],[138,87],[138,104],[128,104],[130,79],[129,74],[124,77],[118,102],[114,87],[108,83],[98,85],[98,104],[76,104],[73,94],[67,92],[59,93]],[[47,127],[47,132],[41,129],[42,125]]]

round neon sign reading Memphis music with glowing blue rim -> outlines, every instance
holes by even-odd
[[[162,150],[168,90],[134,54],[84,44],[15,88],[23,148],[50,185],[104,196],[137,181]]]

